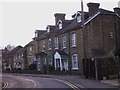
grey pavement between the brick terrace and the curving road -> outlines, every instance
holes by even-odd
[[[118,80],[94,80],[94,79],[85,79],[79,75],[43,75],[43,74],[21,74],[21,75],[31,75],[33,77],[45,77],[45,78],[55,78],[64,81],[68,81],[77,87],[88,88],[96,90],[101,88],[102,90],[119,90]],[[86,90],[86,89],[85,89]]]

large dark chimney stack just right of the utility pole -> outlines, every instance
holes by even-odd
[[[87,6],[89,9],[89,16],[91,16],[98,11],[100,3],[88,3]]]

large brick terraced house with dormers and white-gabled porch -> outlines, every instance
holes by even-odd
[[[89,12],[84,12],[85,40],[81,11],[72,15],[72,20],[66,20],[64,13],[56,13],[55,25],[36,30],[38,70],[50,73],[52,66],[55,71],[97,77],[101,73],[99,67],[102,67],[99,61],[115,63],[115,52],[120,48],[120,8],[114,8],[113,12],[100,9],[99,5],[87,4]],[[87,60],[84,60],[84,41]]]

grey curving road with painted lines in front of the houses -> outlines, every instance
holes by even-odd
[[[7,82],[6,88],[71,88],[74,90],[74,85],[53,78],[3,74],[2,79]]]

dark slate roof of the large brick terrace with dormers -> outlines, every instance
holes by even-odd
[[[78,11],[78,12],[81,13],[81,11]],[[98,11],[95,14],[93,14],[92,16],[89,16],[89,12],[84,12],[85,25],[87,23],[89,23],[90,21],[92,21],[94,18],[96,18],[100,14],[113,14],[113,15],[116,15],[116,13],[113,12],[113,11],[109,11],[109,10],[105,10],[105,9],[101,9],[101,8],[99,8]],[[75,15],[76,15],[76,13],[72,17],[75,17]],[[76,18],[74,18],[72,20],[64,20],[64,21],[62,21],[62,23],[63,23],[63,28],[61,30],[59,30],[57,28],[57,26],[56,26],[56,28],[54,27],[52,29],[52,31],[50,31],[49,33],[44,32],[43,35],[38,37],[37,40],[42,40],[42,39],[45,39],[45,38],[49,38],[51,36],[58,36],[59,34],[66,33],[66,32],[72,31],[72,30],[82,28],[82,23],[81,22],[77,23]]]

